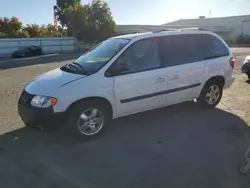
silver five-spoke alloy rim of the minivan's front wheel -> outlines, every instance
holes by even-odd
[[[102,111],[97,108],[89,108],[79,116],[77,126],[82,134],[91,136],[102,129],[104,121]]]

